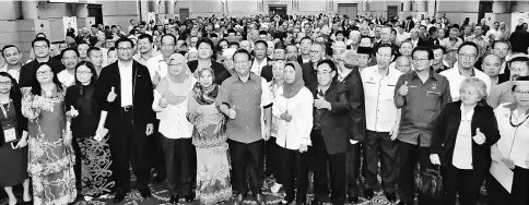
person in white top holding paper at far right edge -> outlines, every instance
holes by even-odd
[[[529,204],[529,76],[518,77],[512,88],[514,102],[495,110],[502,138],[491,148],[493,168],[507,167],[514,173],[510,193],[494,177],[486,181],[487,204]],[[501,176],[504,177],[504,176]]]

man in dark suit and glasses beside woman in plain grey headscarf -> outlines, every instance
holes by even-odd
[[[332,60],[318,62],[318,83],[311,87],[314,101],[314,128],[310,133],[314,156],[313,205],[320,205],[329,195],[328,176],[331,178],[331,203],[345,203],[346,152],[351,138],[349,92],[337,82],[337,68]],[[331,173],[327,173],[329,164]]]

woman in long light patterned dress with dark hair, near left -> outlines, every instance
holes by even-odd
[[[22,91],[22,114],[28,119],[27,170],[33,201],[35,205],[72,203],[77,197],[75,156],[64,116],[66,89],[47,62],[39,63],[34,75],[32,87]]]

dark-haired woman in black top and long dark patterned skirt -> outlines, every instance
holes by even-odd
[[[109,169],[111,159],[108,137],[104,137],[106,130],[97,129],[103,126],[98,126],[102,111],[94,96],[96,80],[95,67],[91,62],[81,61],[75,67],[75,84],[68,88],[64,100],[67,116],[72,118],[70,129],[81,149],[81,155],[77,157],[81,158],[84,196],[107,194],[115,185]]]

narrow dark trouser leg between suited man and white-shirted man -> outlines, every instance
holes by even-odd
[[[360,176],[360,143],[350,145],[348,150],[348,194],[358,196],[358,176]]]

